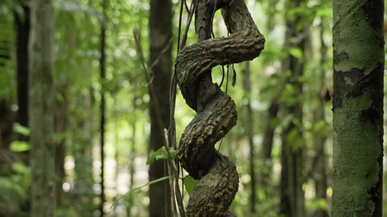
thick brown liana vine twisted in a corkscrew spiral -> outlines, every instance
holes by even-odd
[[[230,36],[211,39],[214,9],[222,9]],[[200,179],[189,197],[187,215],[228,216],[238,190],[238,173],[214,146],[235,126],[237,112],[231,97],[212,82],[211,69],[254,59],[264,49],[265,38],[243,0],[196,0],[195,29],[198,43],[183,48],[175,63],[181,93],[197,112],[178,147],[183,168]]]

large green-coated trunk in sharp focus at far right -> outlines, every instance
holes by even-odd
[[[382,216],[383,10],[333,1],[333,217]]]

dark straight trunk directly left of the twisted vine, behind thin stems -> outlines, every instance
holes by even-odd
[[[168,45],[172,36],[172,5],[171,0],[151,0],[150,2],[150,64],[153,64]],[[150,150],[161,148],[164,143],[164,128],[169,123],[169,85],[172,74],[172,49],[161,54],[158,64],[153,69],[153,88],[155,95],[150,97],[151,141]],[[150,94],[151,91],[149,91]],[[156,101],[158,103],[156,103]],[[156,107],[156,105],[159,105]],[[161,124],[157,111],[160,112]],[[164,161],[155,161],[150,165],[149,181],[164,177]],[[149,186],[149,216],[169,216],[171,202],[168,180]]]

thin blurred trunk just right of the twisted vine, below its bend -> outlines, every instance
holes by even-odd
[[[255,213],[255,198],[256,198],[256,190],[255,190],[255,171],[254,171],[254,143],[253,143],[253,116],[251,111],[251,82],[250,82],[250,64],[249,62],[246,62],[246,68],[244,70],[244,79],[243,79],[243,88],[245,91],[245,94],[247,95],[247,138],[248,138],[248,144],[250,146],[250,177],[251,177],[251,195],[250,195],[250,212]]]

